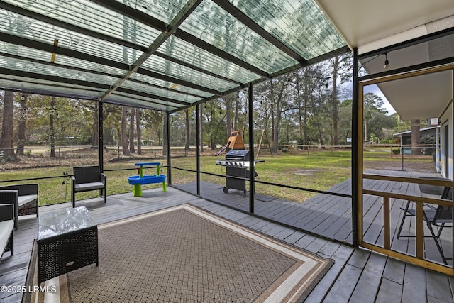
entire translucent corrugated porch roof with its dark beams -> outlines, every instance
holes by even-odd
[[[314,0],[188,3],[1,0],[0,79],[173,111],[345,48]]]

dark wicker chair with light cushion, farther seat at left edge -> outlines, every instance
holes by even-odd
[[[0,204],[14,205],[14,226],[18,216],[38,216],[38,184],[14,184],[0,187]]]

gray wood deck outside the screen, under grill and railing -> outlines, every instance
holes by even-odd
[[[407,172],[398,170],[368,170],[369,174],[392,175],[399,177],[416,177],[421,175],[435,175],[430,173],[421,174],[421,172]],[[196,184],[181,184],[175,187],[184,191],[196,194]],[[365,180],[364,188],[370,190],[395,192],[399,194],[409,194],[416,196],[428,196],[421,194],[417,184],[402,182],[388,182],[381,180]],[[328,192],[340,194],[351,194],[351,180],[346,180],[336,184]],[[230,189],[227,194],[223,193],[223,186],[209,182],[201,182],[201,197],[211,201],[232,207],[249,211],[249,193],[243,197],[243,192]],[[287,226],[313,233],[317,236],[333,239],[345,243],[352,243],[352,199],[345,197],[333,196],[330,194],[317,194],[311,199],[302,203],[295,203],[265,197],[261,194],[255,194],[255,214],[265,219],[270,219]],[[396,238],[399,224],[402,220],[406,204],[402,199],[391,199],[390,219],[391,219],[391,238],[392,249],[415,255],[414,238]],[[363,202],[363,226],[364,239],[367,243],[382,245],[383,243],[383,215],[382,215],[382,197],[365,195]],[[402,235],[414,235],[414,219],[407,217],[405,220]],[[452,231],[445,228],[442,233],[442,243],[445,255],[452,254]],[[426,229],[426,234],[429,234]],[[441,256],[433,242],[432,238],[425,239],[426,259],[437,263],[442,263]],[[449,263],[452,264],[452,263]]]

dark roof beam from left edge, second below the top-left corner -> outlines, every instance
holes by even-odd
[[[16,35],[11,35],[9,33],[0,32],[0,40],[1,41],[5,41],[7,43],[12,43],[12,44],[16,44],[16,45],[22,45],[22,46],[25,46],[27,48],[34,48],[36,50],[43,50],[44,52],[48,52],[48,53],[57,53],[59,55],[65,55],[67,57],[73,57],[73,58],[80,59],[80,60],[85,60],[85,61],[89,61],[89,62],[98,63],[98,64],[101,64],[101,65],[106,65],[106,66],[110,66],[110,67],[116,67],[116,68],[121,69],[121,70],[129,70],[130,69],[130,66],[125,64],[125,63],[121,63],[121,62],[117,62],[117,61],[114,61],[114,60],[105,59],[103,57],[89,55],[87,53],[82,53],[82,52],[79,52],[77,50],[71,50],[69,48],[62,48],[60,46],[55,47],[53,45],[53,43],[52,44],[43,43],[43,42],[40,42],[40,41],[31,40],[31,39],[23,38],[23,37],[18,37]],[[164,76],[164,75],[161,75],[161,74],[159,74],[157,72],[151,72],[150,70],[146,70],[145,68],[140,68],[138,70],[138,72],[143,74],[143,75],[149,75],[150,77],[155,77],[157,79],[162,79],[164,81],[180,84],[180,85],[182,85],[184,87],[190,87],[192,89],[197,89],[197,90],[200,90],[202,92],[208,92],[210,94],[222,94],[221,92],[217,91],[216,89],[210,89],[208,87],[202,87],[201,85],[194,84],[194,83],[191,83],[191,82],[188,82],[188,81],[185,81],[185,80],[177,79],[175,77]]]

